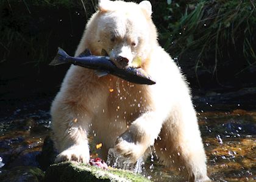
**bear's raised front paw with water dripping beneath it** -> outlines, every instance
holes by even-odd
[[[139,142],[135,142],[135,136],[130,131],[118,137],[115,149],[119,154],[129,158],[132,163],[135,163],[144,153],[144,147]]]

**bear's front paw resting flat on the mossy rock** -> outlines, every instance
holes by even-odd
[[[90,153],[88,147],[76,145],[69,147],[62,153],[57,155],[55,158],[55,163],[60,163],[63,161],[77,161],[79,163],[88,164],[90,160]]]

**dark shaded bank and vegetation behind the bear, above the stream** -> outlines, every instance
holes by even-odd
[[[54,96],[69,66],[54,68],[48,63],[57,47],[74,53],[96,4],[96,0],[0,1],[1,107]],[[194,93],[255,87],[254,0],[152,0],[151,4],[160,44],[181,67]]]

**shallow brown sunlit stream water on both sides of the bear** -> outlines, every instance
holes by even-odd
[[[256,111],[199,111],[199,125],[208,157],[208,175],[214,181],[256,181]],[[32,113],[26,107],[0,118],[0,171],[14,166],[37,166],[45,136],[48,111]],[[100,149],[93,150],[93,156]],[[25,159],[25,161],[23,160]],[[185,181],[151,155],[137,171],[152,181]]]

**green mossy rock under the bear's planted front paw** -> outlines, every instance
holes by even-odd
[[[121,169],[100,169],[95,166],[88,166],[75,162],[52,164],[46,171],[44,181],[134,181],[147,182],[147,178],[127,170]]]

